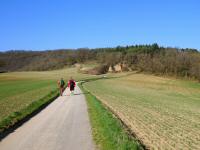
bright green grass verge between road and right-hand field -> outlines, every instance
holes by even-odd
[[[101,150],[138,150],[142,147],[125,130],[123,124],[92,94],[85,94],[92,125],[93,138]]]

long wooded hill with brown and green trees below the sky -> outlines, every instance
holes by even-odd
[[[172,74],[200,80],[198,50],[166,48],[157,44],[98,49],[1,52],[0,71],[53,70],[91,60],[106,66],[121,64],[124,71]]]

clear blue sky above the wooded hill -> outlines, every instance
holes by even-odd
[[[200,0],[0,0],[0,50],[200,49]]]

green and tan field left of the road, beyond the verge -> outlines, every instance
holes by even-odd
[[[91,75],[81,74],[77,68],[44,72],[13,72],[0,74],[0,122],[13,112],[19,112],[57,89],[63,77],[80,80]]]

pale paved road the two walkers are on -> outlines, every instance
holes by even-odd
[[[93,150],[84,95],[58,97],[0,142],[0,150]]]

